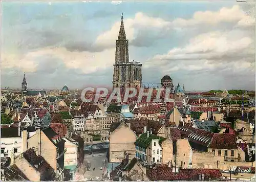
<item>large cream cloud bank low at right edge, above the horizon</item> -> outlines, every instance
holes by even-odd
[[[191,38],[187,45],[149,59],[144,67],[159,67],[163,73],[176,71],[221,71],[231,68],[254,70],[254,40],[242,31],[209,32]],[[177,65],[178,64],[178,65]]]

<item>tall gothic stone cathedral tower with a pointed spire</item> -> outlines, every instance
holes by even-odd
[[[142,64],[137,61],[129,62],[129,40],[126,39],[123,14],[118,40],[116,40],[116,60],[114,64],[113,89],[120,87],[121,92],[126,87],[139,89],[142,85]]]

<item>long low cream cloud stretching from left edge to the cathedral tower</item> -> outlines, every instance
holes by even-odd
[[[114,51],[110,49],[92,53],[70,52],[65,48],[44,48],[29,52],[23,57],[3,56],[1,62],[5,69],[19,67],[23,72],[34,73],[39,69],[39,63],[50,57],[53,61],[61,60],[68,69],[79,69],[84,74],[90,74],[109,68],[115,60]]]

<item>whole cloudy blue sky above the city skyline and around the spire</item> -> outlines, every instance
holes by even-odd
[[[2,87],[112,86],[121,13],[143,82],[255,87],[255,4],[236,1],[2,2]],[[146,83],[147,84],[147,83]]]

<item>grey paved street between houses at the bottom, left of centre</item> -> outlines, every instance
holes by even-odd
[[[98,153],[93,155],[86,155],[84,156],[83,164],[86,165],[87,163],[91,164],[90,171],[85,171],[83,174],[84,179],[91,179],[93,180],[101,180],[103,174],[103,168],[105,165],[106,153]],[[102,167],[102,170],[100,169]],[[95,171],[93,171],[95,168]]]

